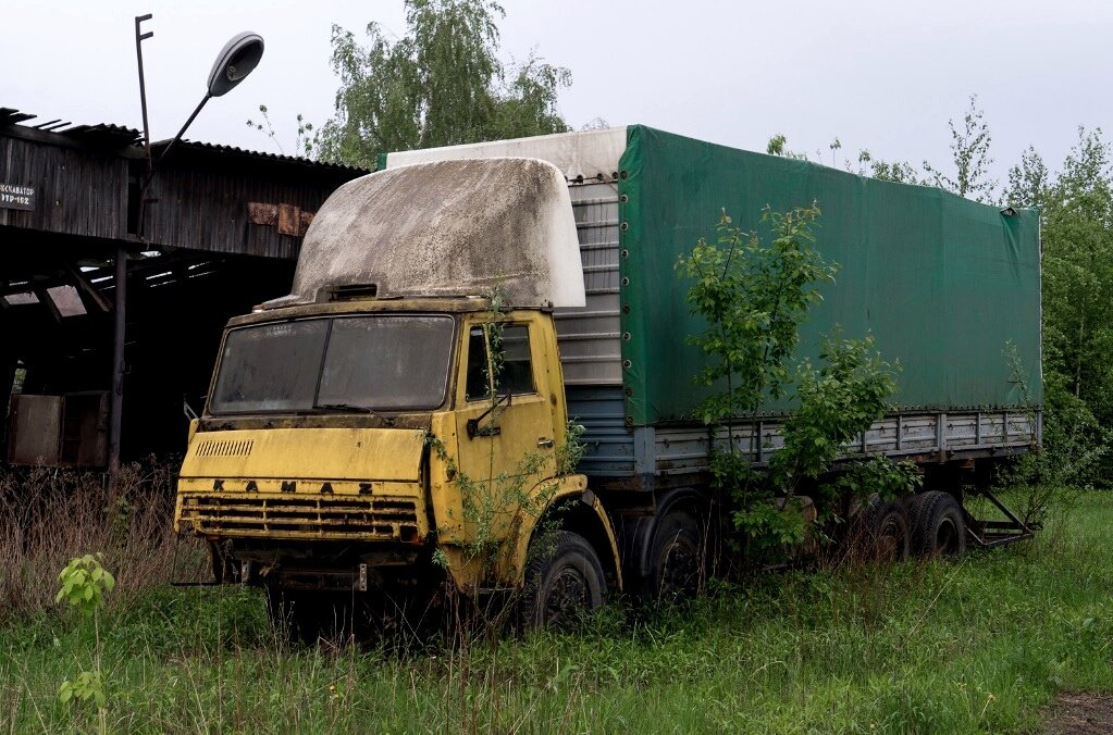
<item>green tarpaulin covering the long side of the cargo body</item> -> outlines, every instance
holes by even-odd
[[[677,258],[715,237],[722,210],[761,232],[764,207],[811,202],[823,211],[817,247],[840,268],[809,314],[801,356],[814,356],[820,335],[835,328],[844,337],[873,334],[885,359],[903,368],[902,410],[1042,403],[1035,210],[1002,212],[932,187],[643,126],[627,128],[619,195],[623,386],[634,426],[689,418],[703,396],[690,380],[703,358],[687,337],[705,324],[684,299]]]

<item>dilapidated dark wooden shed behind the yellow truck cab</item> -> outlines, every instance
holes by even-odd
[[[0,108],[0,463],[108,466],[116,389],[120,458],[178,454],[225,322],[288,292],[313,213],[366,171],[183,141],[141,202],[139,131],[33,117]]]

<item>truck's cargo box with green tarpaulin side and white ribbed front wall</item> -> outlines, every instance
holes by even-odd
[[[1002,212],[933,187],[644,126],[390,153],[380,165],[502,156],[548,160],[569,181],[588,307],[556,316],[577,410],[601,410],[605,395],[618,410],[624,403],[628,429],[693,423],[706,389],[692,376],[705,357],[688,338],[706,325],[691,314],[677,258],[716,237],[723,210],[768,237],[759,227],[765,207],[812,202],[823,211],[817,247],[840,268],[821,287],[799,357],[814,358],[820,336],[836,328],[847,338],[874,335],[884,358],[902,366],[897,403],[909,415],[1018,413],[1042,403],[1035,210]],[[604,393],[590,394],[588,409],[578,401],[592,388]],[[770,403],[764,416],[790,406],[791,396]]]

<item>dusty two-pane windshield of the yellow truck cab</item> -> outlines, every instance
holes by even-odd
[[[421,410],[444,401],[453,320],[304,319],[228,332],[210,414]]]

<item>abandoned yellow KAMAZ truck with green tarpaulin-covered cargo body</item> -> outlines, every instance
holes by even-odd
[[[526,589],[536,625],[686,586],[723,435],[692,416],[703,326],[674,264],[723,209],[754,229],[812,201],[841,270],[801,346],[839,325],[903,365],[896,410],[846,457],[919,465],[893,514],[920,552],[1030,534],[974,518],[964,493],[1040,443],[1035,211],[640,126],[380,168],[317,212],[290,294],[224,335],[176,511],[219,580],[265,586],[303,624],[337,600],[425,604],[445,580]],[[752,464],[789,408],[735,423]],[[562,471],[570,418],[585,454]]]

